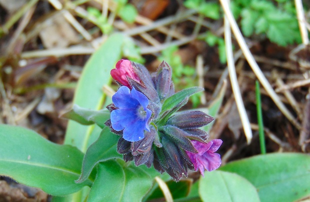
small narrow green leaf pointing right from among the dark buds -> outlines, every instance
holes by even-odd
[[[202,87],[190,87],[176,92],[175,94],[169,96],[167,99],[164,100],[161,111],[166,111],[173,108],[190,95],[200,91],[203,91]]]

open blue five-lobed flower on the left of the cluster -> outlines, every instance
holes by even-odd
[[[132,87],[121,86],[112,96],[117,109],[111,112],[112,128],[123,129],[123,138],[127,141],[138,141],[144,137],[144,130],[150,131],[147,121],[151,110],[147,107],[148,99]]]

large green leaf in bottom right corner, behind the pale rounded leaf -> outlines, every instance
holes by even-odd
[[[263,201],[295,201],[310,195],[310,156],[270,153],[228,163],[220,170],[249,180]]]

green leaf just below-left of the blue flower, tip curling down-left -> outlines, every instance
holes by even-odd
[[[85,153],[82,171],[76,180],[77,183],[85,181],[97,163],[111,158],[122,158],[116,151],[118,139],[119,136],[110,132],[109,127],[105,126],[102,129],[99,138],[88,147]]]

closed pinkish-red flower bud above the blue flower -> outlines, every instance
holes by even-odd
[[[131,88],[131,86],[128,78],[131,78],[137,82],[140,81],[139,77],[133,71],[131,62],[127,59],[121,59],[116,63],[115,68],[111,70],[111,76],[114,80],[129,88]]]

